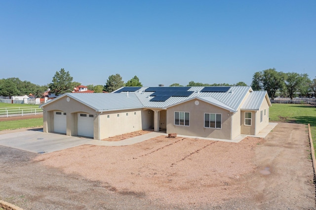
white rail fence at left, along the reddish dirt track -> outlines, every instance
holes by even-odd
[[[42,114],[43,110],[36,107],[9,107],[0,108],[0,117],[24,116]]]

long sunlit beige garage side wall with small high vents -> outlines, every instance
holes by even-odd
[[[100,139],[142,130],[142,114],[140,109],[103,112],[100,114]]]

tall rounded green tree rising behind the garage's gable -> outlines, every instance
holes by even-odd
[[[61,69],[56,71],[52,83],[49,84],[50,91],[56,95],[71,93],[73,91],[73,77],[69,71]]]

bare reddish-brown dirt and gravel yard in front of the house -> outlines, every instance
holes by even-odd
[[[28,209],[316,209],[305,125],[229,143],[164,136],[46,154],[0,146],[0,200]]]

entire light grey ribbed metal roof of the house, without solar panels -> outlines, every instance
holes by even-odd
[[[120,93],[116,93],[116,91],[112,93],[66,93],[46,104],[50,104],[61,97],[68,96],[96,111],[108,111],[143,107],[165,109],[186,101],[199,99],[226,110],[237,112],[238,107],[245,100],[245,97],[247,98],[245,103],[241,106],[241,109],[258,110],[267,93],[266,91],[252,91],[251,87],[248,86],[228,87],[229,89],[227,92],[201,92],[204,87],[177,87],[174,89],[175,91],[192,91],[192,94],[187,97],[171,96],[165,101],[151,101],[151,99],[155,97],[151,96],[155,91],[145,91],[147,88],[148,87],[141,87],[134,92],[118,91]],[[168,88],[168,91],[172,91],[172,87]],[[163,87],[161,87],[161,91],[162,90]]]

